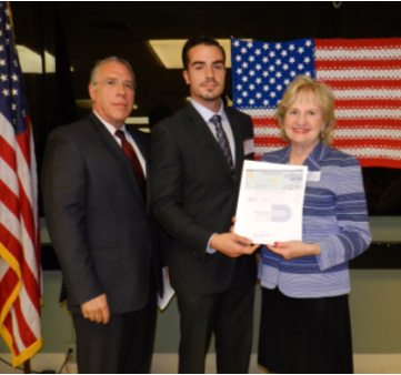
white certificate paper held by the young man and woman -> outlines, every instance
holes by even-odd
[[[302,241],[308,166],[244,161],[234,232],[254,244]]]

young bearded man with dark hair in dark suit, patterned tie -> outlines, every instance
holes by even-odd
[[[215,335],[219,373],[247,373],[255,246],[230,233],[251,119],[223,105],[224,51],[212,38],[182,52],[191,102],[152,130],[152,210],[173,237],[168,256],[181,316],[180,373],[204,372]]]

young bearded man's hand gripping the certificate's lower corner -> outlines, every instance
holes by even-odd
[[[250,255],[259,247],[252,241],[235,233],[221,233],[212,236],[210,247],[230,257]]]

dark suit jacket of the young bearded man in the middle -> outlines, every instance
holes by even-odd
[[[255,278],[253,256],[233,260],[219,252],[207,253],[211,235],[228,232],[232,225],[243,142],[253,139],[248,115],[229,108],[225,113],[235,141],[234,179],[219,143],[192,104],[152,129],[152,211],[173,237],[168,254],[170,278],[176,291],[186,294],[227,290],[238,262],[248,267],[241,282],[254,283]]]

